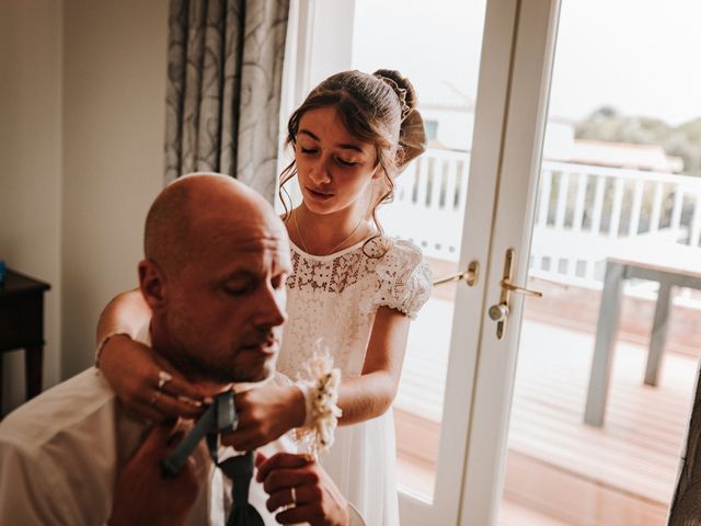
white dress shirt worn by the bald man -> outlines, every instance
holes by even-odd
[[[136,340],[150,343],[148,324]],[[105,524],[119,469],[148,428],[94,367],[30,400],[0,422],[0,524]],[[258,450],[269,457],[295,447],[283,437]],[[185,524],[226,524],[229,481],[214,469],[204,441],[191,458],[200,491]],[[255,479],[249,496],[265,524],[277,524]]]

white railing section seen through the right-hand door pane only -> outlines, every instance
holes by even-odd
[[[594,286],[622,239],[645,237],[699,247],[701,179],[564,162],[543,162],[531,272]],[[553,248],[556,247],[556,254]]]

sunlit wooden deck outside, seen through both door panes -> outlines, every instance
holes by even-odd
[[[439,310],[427,318],[445,319]],[[426,386],[445,374],[443,344],[412,338],[397,403],[399,481],[424,494],[433,493],[443,398]],[[606,424],[595,428],[582,422],[593,347],[593,334],[524,322],[501,525],[665,524],[696,359],[666,353],[660,385],[648,387],[646,347],[618,342]]]

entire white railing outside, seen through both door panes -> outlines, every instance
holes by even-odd
[[[412,163],[381,209],[388,233],[457,261],[469,165],[469,153],[445,150]],[[606,255],[623,239],[644,236],[651,250],[662,241],[700,245],[701,178],[543,161],[536,210],[530,274],[600,288]]]

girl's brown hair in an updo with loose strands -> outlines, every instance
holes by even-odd
[[[392,199],[394,178],[426,149],[424,122],[416,104],[414,87],[399,71],[379,69],[372,75],[357,70],[342,71],[322,81],[292,113],[287,123],[285,144],[295,146],[299,122],[306,112],[334,106],[350,135],[357,140],[375,145],[378,164],[384,176],[381,187],[372,196],[371,216],[381,235],[377,207]],[[279,195],[285,206],[285,219],[291,211],[291,199],[284,185],[295,175],[297,165],[292,159],[280,174]],[[287,194],[289,208],[283,192]]]

